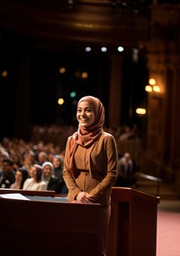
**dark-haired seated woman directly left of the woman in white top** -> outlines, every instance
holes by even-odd
[[[23,189],[23,184],[28,178],[28,171],[23,167],[20,167],[15,172],[14,184],[10,186],[11,189]]]

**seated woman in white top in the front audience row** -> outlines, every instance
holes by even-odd
[[[23,189],[25,190],[46,190],[47,185],[42,180],[42,166],[31,166],[31,178],[25,180]]]

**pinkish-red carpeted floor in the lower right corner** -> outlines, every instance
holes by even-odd
[[[180,256],[180,201],[158,206],[157,256]]]

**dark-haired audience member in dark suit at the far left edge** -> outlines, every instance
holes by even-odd
[[[15,180],[14,161],[9,158],[4,158],[1,162],[1,167],[0,187],[9,188]]]

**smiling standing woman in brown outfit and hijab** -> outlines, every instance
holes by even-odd
[[[67,139],[63,177],[69,202],[101,204],[100,255],[106,253],[111,190],[117,177],[114,137],[103,131],[104,109],[97,98],[85,96],[77,103],[77,131]]]

